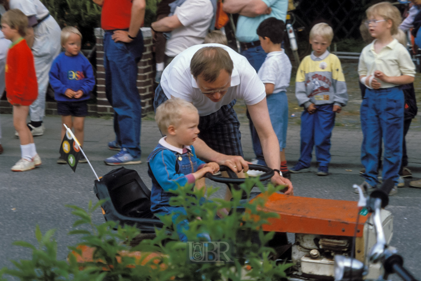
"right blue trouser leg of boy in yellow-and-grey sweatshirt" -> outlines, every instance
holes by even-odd
[[[330,163],[330,137],[335,125],[333,104],[319,105],[314,113],[314,145],[319,166],[328,167]]]

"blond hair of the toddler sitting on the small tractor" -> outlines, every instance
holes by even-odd
[[[178,126],[180,124],[182,114],[186,111],[197,113],[197,108],[186,100],[178,97],[168,99],[161,103],[155,112],[155,121],[162,133],[167,133],[170,125]]]

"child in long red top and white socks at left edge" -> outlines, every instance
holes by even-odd
[[[26,119],[29,106],[37,99],[38,84],[34,57],[25,39],[28,18],[18,9],[12,9],[2,16],[2,31],[12,41],[6,60],[6,92],[13,105],[13,124],[19,133],[22,158],[12,167],[14,172],[23,172],[41,165],[34,138]]]

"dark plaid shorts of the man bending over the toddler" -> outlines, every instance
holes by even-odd
[[[158,85],[153,100],[154,110],[167,99],[161,86]],[[233,108],[236,102],[237,100],[233,100],[230,104],[222,106],[217,112],[200,116],[199,137],[209,148],[219,153],[243,157],[240,121]]]

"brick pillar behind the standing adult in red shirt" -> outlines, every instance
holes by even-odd
[[[144,49],[141,61],[138,63],[137,90],[142,103],[142,115],[153,111],[153,78],[154,71],[152,65],[152,33],[150,28],[141,28],[144,42]],[[104,49],[103,30],[95,29],[97,46],[97,113],[100,115],[112,114],[113,109],[105,96],[105,69],[104,69]]]

